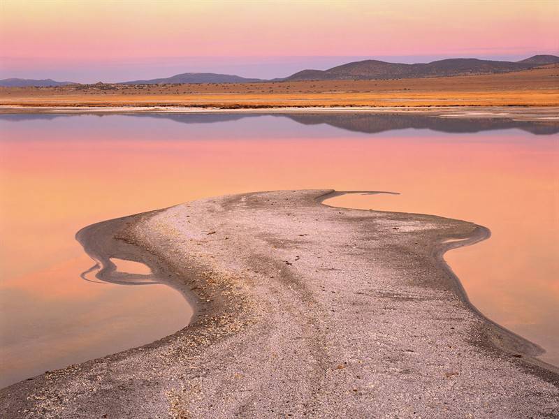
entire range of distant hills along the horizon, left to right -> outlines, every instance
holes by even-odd
[[[535,55],[521,61],[493,61],[476,58],[451,58],[420,64],[397,64],[375,59],[355,61],[328,70],[303,70],[289,77],[274,80],[243,78],[238,75],[215,73],[182,73],[169,78],[133,80],[115,84],[187,84],[187,83],[255,83],[298,80],[386,80],[395,78],[426,78],[450,75],[507,73],[546,64],[559,64],[556,55]],[[0,80],[1,87],[64,86],[72,82],[10,78]],[[75,83],[78,84],[78,83]]]

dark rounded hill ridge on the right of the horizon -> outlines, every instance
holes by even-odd
[[[284,80],[347,80],[444,77],[483,73],[506,73],[559,63],[555,55],[535,55],[522,61],[493,61],[475,58],[451,58],[426,64],[395,64],[368,59],[342,64],[328,70],[303,70]]]

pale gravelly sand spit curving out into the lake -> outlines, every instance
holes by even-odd
[[[328,207],[328,193],[222,196],[82,230],[101,263],[136,260],[184,289],[196,318],[1,390],[3,417],[559,417],[541,349],[472,309],[442,261],[486,228]]]

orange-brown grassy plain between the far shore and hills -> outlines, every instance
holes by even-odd
[[[0,87],[0,105],[273,108],[559,106],[559,65],[489,75],[398,80]]]

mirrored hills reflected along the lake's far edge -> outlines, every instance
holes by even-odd
[[[57,117],[78,117],[85,114],[4,114],[0,120],[14,122],[34,119],[55,119]],[[367,114],[367,113],[122,113],[122,114],[89,114],[98,117],[112,115],[171,119],[182,124],[212,124],[215,122],[233,122],[249,117],[272,115],[287,117],[299,124],[327,124],[347,131],[360,133],[382,133],[397,129],[430,129],[444,133],[477,133],[480,131],[521,129],[535,135],[559,133],[559,122],[515,121],[498,117],[439,117],[437,115],[402,115],[402,114]]]

